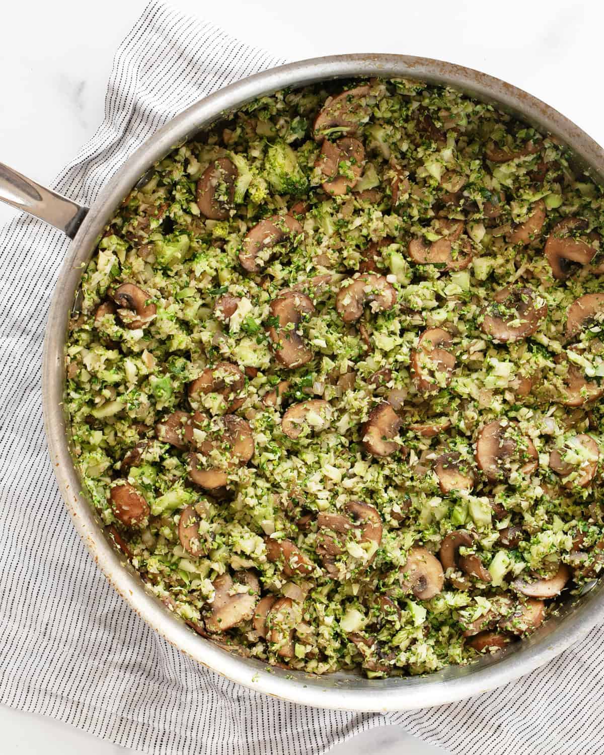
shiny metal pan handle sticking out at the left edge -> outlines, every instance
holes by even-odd
[[[72,239],[86,217],[88,207],[45,189],[0,162],[0,202],[35,215]]]

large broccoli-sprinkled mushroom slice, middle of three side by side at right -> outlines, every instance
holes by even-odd
[[[476,440],[476,462],[487,479],[494,482],[509,476],[513,466],[530,475],[538,467],[538,453],[532,440],[507,420],[485,424]]]

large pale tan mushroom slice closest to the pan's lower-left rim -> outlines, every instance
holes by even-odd
[[[226,632],[252,618],[260,596],[260,584],[254,572],[235,572],[233,577],[222,574],[212,584],[216,592],[211,614],[205,619],[209,632]]]

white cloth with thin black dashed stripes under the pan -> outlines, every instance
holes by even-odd
[[[97,134],[57,190],[90,204],[177,112],[284,61],[153,2],[116,54]],[[0,231],[0,702],[153,755],[307,755],[399,724],[459,755],[604,753],[604,631],[486,695],[390,713],[249,692],[180,654],[109,587],[57,491],[42,430],[48,301],[68,242],[39,220]]]

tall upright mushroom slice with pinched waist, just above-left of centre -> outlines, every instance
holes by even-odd
[[[310,362],[313,352],[304,344],[297,331],[302,316],[315,313],[315,306],[310,298],[297,291],[284,291],[271,301],[270,313],[279,320],[279,325],[271,325],[269,328],[270,343],[277,361],[288,369]]]

